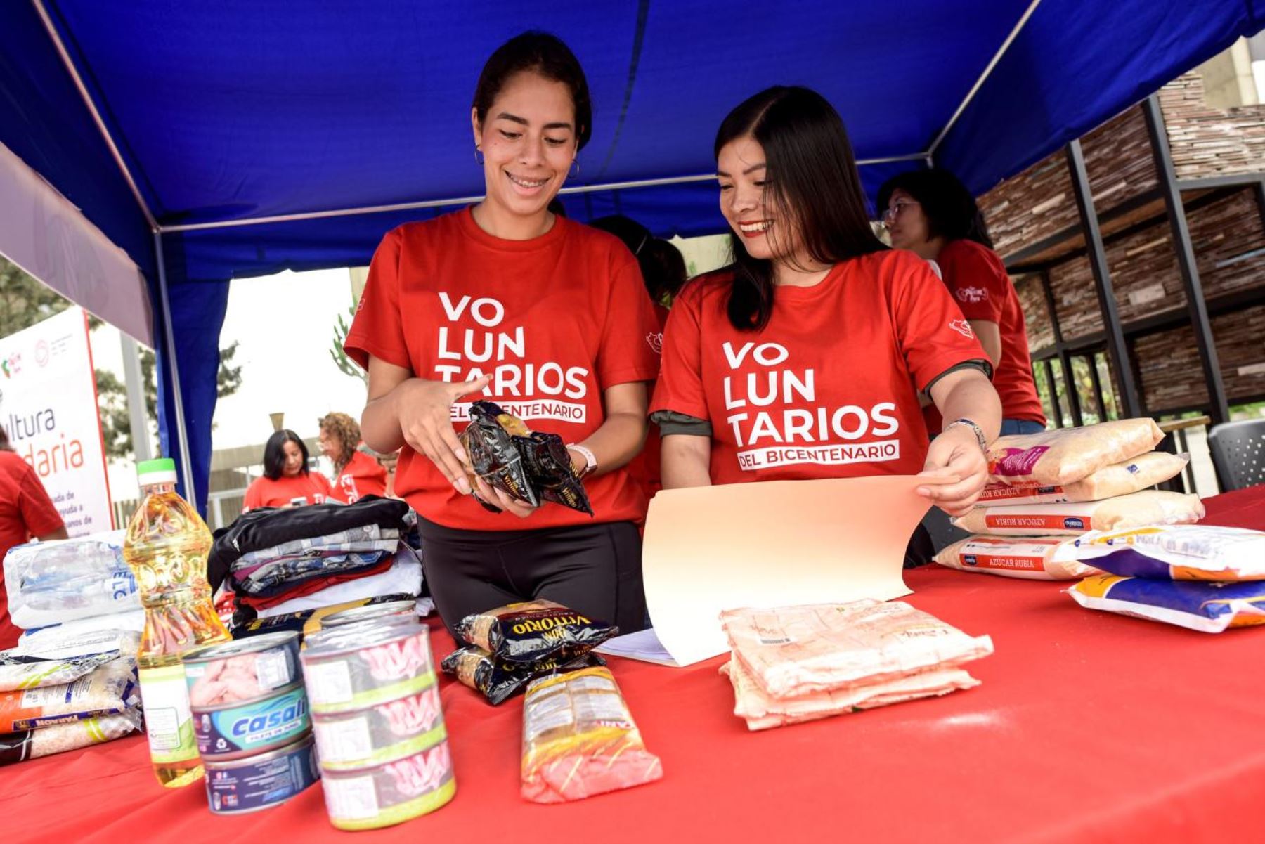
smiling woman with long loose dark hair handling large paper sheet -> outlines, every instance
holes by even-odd
[[[651,419],[664,488],[915,475],[965,512],[1001,405],[988,362],[926,261],[888,249],[851,144],[815,91],[772,87],[715,142],[734,263],[673,304]],[[917,391],[951,420],[929,444]],[[906,564],[931,555],[920,529]]]

